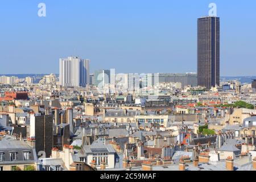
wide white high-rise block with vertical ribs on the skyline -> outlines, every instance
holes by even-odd
[[[60,85],[86,86],[89,72],[89,60],[79,57],[60,59]]]

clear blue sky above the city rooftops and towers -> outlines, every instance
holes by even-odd
[[[255,0],[1,0],[0,73],[59,73],[70,55],[92,60],[92,71],[196,72],[197,18],[210,2],[221,18],[221,75],[256,75]]]

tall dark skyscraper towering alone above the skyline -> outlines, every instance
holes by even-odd
[[[197,19],[197,84],[220,85],[220,18]]]

